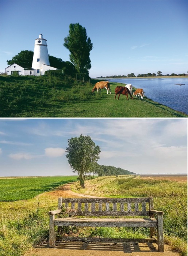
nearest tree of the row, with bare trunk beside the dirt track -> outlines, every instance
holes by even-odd
[[[73,172],[77,172],[80,185],[85,188],[85,177],[91,169],[94,162],[97,162],[100,154],[100,147],[92,141],[89,135],[80,137],[72,137],[68,140],[66,148],[66,158]]]

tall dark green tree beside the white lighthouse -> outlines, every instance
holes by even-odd
[[[91,39],[87,37],[85,27],[79,23],[69,25],[69,35],[64,38],[63,44],[70,52],[70,61],[74,64],[78,73],[89,74],[91,60],[89,53],[93,48]]]

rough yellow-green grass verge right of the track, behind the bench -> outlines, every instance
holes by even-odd
[[[104,197],[154,197],[154,208],[164,211],[165,242],[170,247],[187,255],[187,182],[170,180],[141,179],[139,176],[107,176],[86,181],[82,189],[77,183],[72,185],[74,192]],[[98,232],[98,233],[97,233]],[[107,233],[109,237],[118,234],[120,237],[149,236],[149,231],[143,228],[117,230],[95,230],[95,235]]]

